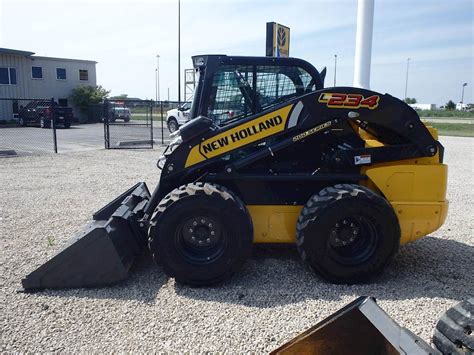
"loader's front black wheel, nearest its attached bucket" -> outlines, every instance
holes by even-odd
[[[153,259],[177,282],[195,286],[221,282],[250,254],[253,226],[243,202],[226,188],[203,182],[166,195],[148,231]]]

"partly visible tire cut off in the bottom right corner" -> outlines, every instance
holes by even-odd
[[[474,354],[474,298],[448,309],[433,332],[433,344],[443,354]]]

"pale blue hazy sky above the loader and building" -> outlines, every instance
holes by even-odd
[[[181,0],[181,69],[198,54],[265,55],[266,22],[290,27],[290,56],[351,86],[356,0]],[[177,99],[178,0],[0,0],[0,47],[95,60],[112,95]],[[375,0],[371,89],[444,105],[474,102],[474,1]],[[181,75],[184,80],[184,75]],[[183,90],[183,84],[182,90]],[[183,96],[183,94],[182,94]]]

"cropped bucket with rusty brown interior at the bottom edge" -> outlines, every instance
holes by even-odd
[[[400,327],[372,297],[359,297],[271,354],[440,354]]]

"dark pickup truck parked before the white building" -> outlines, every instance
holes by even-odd
[[[41,128],[50,128],[53,119],[55,126],[71,127],[74,119],[72,108],[59,106],[56,102],[34,100],[26,106],[20,106],[18,112],[18,124],[23,127],[33,123]]]

